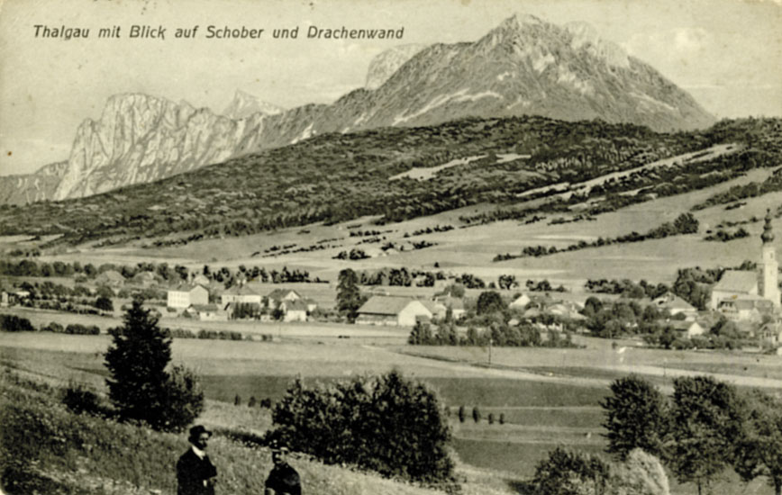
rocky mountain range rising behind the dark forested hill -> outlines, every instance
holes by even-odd
[[[332,104],[284,110],[237,92],[220,115],[146,94],[115,95],[99,120],[79,126],[66,165],[0,177],[0,203],[84,197],[325,132],[523,114],[658,131],[714,122],[689,94],[588,25],[515,15],[472,43],[390,49],[370,64],[365,87]]]

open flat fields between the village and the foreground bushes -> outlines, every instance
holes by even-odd
[[[0,337],[2,365],[57,383],[104,387],[102,353],[109,345],[108,336],[6,333]],[[607,393],[607,384],[624,374],[622,365],[628,359],[639,366],[665,364],[669,374],[674,369],[696,368],[730,374],[734,382],[741,382],[742,377],[777,376],[782,370],[782,359],[777,356],[630,347],[619,353],[610,341],[590,338],[585,342],[586,349],[495,348],[492,364],[498,367],[491,368],[486,367],[486,349],[477,347],[368,346],[352,339],[323,344],[175,339],[173,351],[174,361],[195,368],[207,398],[217,401],[210,402],[205,420],[229,424],[238,415],[246,417],[248,428],[256,432],[268,428],[268,412],[250,413],[245,405],[234,408],[236,395],[242,404],[251,396],[277,400],[296,375],[313,383],[401,369],[432,386],[450,408],[454,446],[462,462],[517,476],[531,475],[534,465],[558,445],[602,451],[604,419],[599,402]],[[460,405],[467,414],[463,424],[456,418]],[[483,419],[478,424],[471,416],[473,407],[481,411]],[[489,425],[489,413],[496,420],[503,414],[505,425]],[[735,480],[726,486],[734,485],[735,490],[723,493],[768,493],[759,483],[753,485],[758,491],[744,491],[746,487],[736,485]],[[692,493],[693,488],[685,485],[675,493]]]

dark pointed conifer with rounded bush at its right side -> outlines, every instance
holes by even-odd
[[[179,431],[203,409],[195,375],[182,367],[166,372],[171,360],[171,338],[158,319],[134,300],[123,326],[112,333],[105,353],[111,377],[109,398],[122,419],[140,420],[159,430]]]

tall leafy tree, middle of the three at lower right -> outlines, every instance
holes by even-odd
[[[670,465],[679,482],[698,494],[736,458],[746,406],[735,388],[709,376],[674,379]]]

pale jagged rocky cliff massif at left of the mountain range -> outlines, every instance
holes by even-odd
[[[234,121],[146,94],[113,96],[98,121],[86,120],[78,128],[53,199],[102,193],[224,161],[241,149],[246,134],[259,133],[263,118],[257,114]]]

